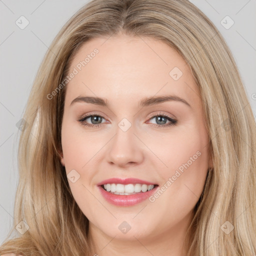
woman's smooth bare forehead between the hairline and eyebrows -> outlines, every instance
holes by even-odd
[[[131,103],[156,94],[198,101],[197,86],[183,58],[168,44],[151,37],[93,38],[79,48],[69,67],[66,101],[78,95]],[[191,93],[192,92],[192,93]]]

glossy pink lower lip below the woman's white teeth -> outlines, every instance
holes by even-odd
[[[107,192],[104,188],[101,186],[98,186],[100,193],[102,196],[110,203],[118,206],[131,206],[134,204],[137,204],[145,199],[147,199],[152,193],[155,192],[156,188],[158,186],[155,186],[153,189],[146,191],[146,192],[139,192],[136,194],[113,194],[110,192]]]

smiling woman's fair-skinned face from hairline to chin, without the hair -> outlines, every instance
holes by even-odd
[[[119,35],[84,43],[71,72],[61,162],[90,231],[126,240],[183,234],[209,167],[202,102],[185,61],[162,41]],[[121,180],[104,181],[111,178]],[[116,195],[102,183],[142,191]]]

